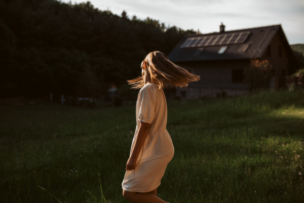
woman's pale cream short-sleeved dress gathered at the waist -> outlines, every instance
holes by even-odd
[[[150,129],[137,158],[135,170],[126,171],[122,187],[129,192],[150,192],[158,188],[174,154],[172,140],[166,130],[166,97],[164,91],[154,84],[147,84],[139,91],[136,103],[137,125],[130,155],[140,121],[149,123]]]

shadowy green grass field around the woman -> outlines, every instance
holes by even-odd
[[[135,126],[135,106],[1,106],[0,202],[128,202]],[[167,130],[164,200],[304,202],[303,90],[168,102]]]

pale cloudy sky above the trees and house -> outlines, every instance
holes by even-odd
[[[63,2],[68,2],[64,0]],[[73,3],[85,2],[83,0]],[[109,9],[129,18],[147,17],[202,33],[281,24],[289,44],[304,43],[304,0],[91,0],[99,10]]]

